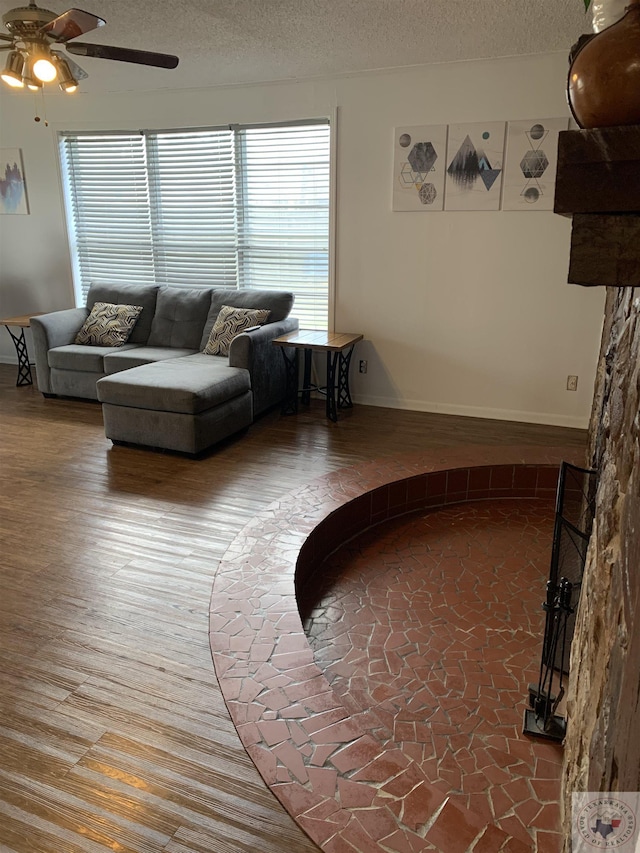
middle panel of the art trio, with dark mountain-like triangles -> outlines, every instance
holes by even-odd
[[[445,210],[499,210],[504,121],[449,125]]]

